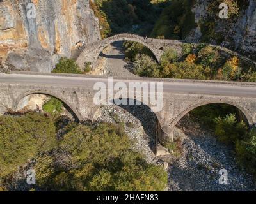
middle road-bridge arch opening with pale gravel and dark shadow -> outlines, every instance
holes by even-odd
[[[128,135],[131,135],[133,139],[140,140],[139,143],[142,145],[147,145],[150,152],[156,153],[159,131],[162,131],[159,115],[152,112],[150,106],[141,101],[130,98],[126,98],[126,100],[127,105],[117,105],[115,100],[111,100],[109,102],[113,105],[100,106],[95,112],[93,120],[106,122],[111,118],[111,122],[123,124],[125,129],[129,129]],[[129,100],[133,103],[129,103]]]

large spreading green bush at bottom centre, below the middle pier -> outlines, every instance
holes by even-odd
[[[38,184],[63,191],[163,190],[166,172],[146,163],[131,144],[120,126],[79,125],[63,137],[53,158],[36,163]],[[53,164],[58,168],[52,171]]]

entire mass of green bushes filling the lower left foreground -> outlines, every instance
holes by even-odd
[[[28,159],[36,171],[33,190],[161,191],[166,185],[166,172],[132,150],[122,125],[35,112],[1,116],[0,124],[0,190],[10,190],[17,166]]]

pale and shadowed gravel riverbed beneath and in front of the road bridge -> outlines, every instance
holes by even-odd
[[[100,121],[124,124],[125,133],[136,141],[134,150],[144,154],[148,163],[163,165],[168,160],[153,153],[156,117],[147,106],[103,106],[99,112]],[[232,147],[218,142],[189,116],[179,122],[176,133],[182,138],[183,153],[169,162],[166,191],[255,191],[252,176],[236,164]],[[228,172],[227,185],[218,182],[222,169]]]

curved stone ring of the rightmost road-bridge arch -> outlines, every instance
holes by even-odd
[[[189,112],[191,112],[191,110],[194,110],[195,108],[198,108],[200,106],[204,106],[204,105],[210,105],[210,104],[226,104],[226,105],[231,105],[236,107],[238,110],[240,110],[244,116],[246,117],[246,122],[248,122],[249,126],[253,126],[253,118],[250,115],[250,113],[248,112],[248,110],[246,110],[245,108],[243,108],[243,106],[237,105],[237,103],[234,103],[232,101],[204,101],[202,103],[197,103],[196,105],[193,106],[189,106],[189,108],[186,108],[186,110],[183,110],[182,112],[179,113],[179,115],[177,115],[177,117],[175,117],[175,119],[173,119],[172,123],[170,124],[169,128],[174,128],[176,126],[176,124],[180,121],[180,119],[182,119],[186,114],[188,114]]]

